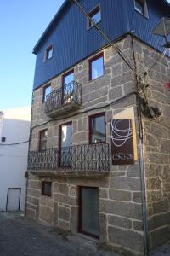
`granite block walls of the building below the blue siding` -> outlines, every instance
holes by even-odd
[[[143,74],[157,57],[156,50],[142,44],[137,39],[122,39],[117,45],[126,54],[134,67],[133,47],[137,72]],[[111,47],[101,50],[105,57],[105,75],[94,81],[88,78],[88,60],[74,67],[75,80],[82,84],[82,107],[74,117],[59,120],[47,118],[42,103],[42,87],[34,91],[32,105],[32,132],[30,150],[38,149],[39,131],[48,128],[48,148],[59,146],[59,125],[72,121],[73,145],[88,143],[88,116],[105,112],[106,140],[111,143],[111,118],[129,107],[134,108],[138,159],[134,165],[112,166],[105,177],[38,177],[29,173],[27,194],[27,217],[55,225],[63,230],[78,231],[78,191],[80,186],[99,188],[99,241],[144,255],[144,228],[142,214],[141,168],[139,166],[139,123],[136,110],[136,97],[131,95],[116,104],[116,99],[136,91],[135,75]],[[91,56],[92,57],[92,56]],[[150,104],[162,108],[161,120],[143,117],[144,125],[144,177],[146,182],[148,228],[150,247],[167,241],[169,229],[169,130],[162,124],[168,120],[170,95],[162,89],[169,76],[168,59],[162,59],[147,77]],[[159,69],[159,75],[157,73]],[[159,80],[159,79],[163,79]],[[62,75],[51,81],[55,90],[61,86]],[[45,86],[46,84],[44,84]],[[105,107],[105,105],[108,105]],[[100,109],[95,109],[101,107]],[[103,108],[102,108],[103,107]],[[79,113],[90,110],[88,113]],[[71,113],[73,114],[73,113]],[[74,113],[75,114],[75,113]],[[163,121],[162,121],[163,120]],[[47,123],[47,121],[49,121]],[[160,123],[161,124],[160,124]],[[42,125],[43,123],[46,123]],[[35,126],[35,127],[34,127]],[[162,130],[161,130],[162,129]],[[161,131],[161,132],[160,132]],[[57,172],[57,171],[56,171]],[[42,181],[52,181],[52,196],[44,196]],[[159,234],[166,234],[166,239]]]

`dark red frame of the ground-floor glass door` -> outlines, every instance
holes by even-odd
[[[78,207],[78,232],[82,233],[84,235],[87,235],[87,236],[94,237],[94,238],[99,240],[99,236],[95,236],[91,233],[88,233],[88,232],[82,230],[82,189],[98,190],[98,195],[99,195],[99,188],[98,187],[79,186],[79,188],[78,188],[78,206],[79,206]],[[99,200],[99,197],[98,197],[98,200]]]

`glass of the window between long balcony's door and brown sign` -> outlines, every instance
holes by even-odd
[[[105,116],[91,119],[92,143],[105,142]]]

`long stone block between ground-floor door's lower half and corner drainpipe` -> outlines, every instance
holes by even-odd
[[[100,199],[99,211],[126,218],[142,219],[142,205],[133,202]]]

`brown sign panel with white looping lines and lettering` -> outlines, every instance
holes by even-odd
[[[113,165],[133,164],[133,128],[131,119],[111,120],[111,155]]]

